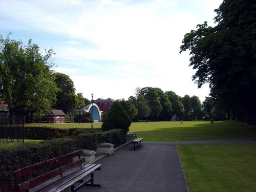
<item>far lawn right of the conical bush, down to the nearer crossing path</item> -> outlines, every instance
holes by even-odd
[[[146,141],[202,141],[256,139],[256,126],[237,121],[135,122],[130,132]]]

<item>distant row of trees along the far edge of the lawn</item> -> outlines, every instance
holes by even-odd
[[[130,118],[136,120],[224,120],[227,114],[216,106],[210,97],[203,104],[197,96],[178,96],[173,91],[163,92],[159,88],[137,88],[135,96],[120,100]]]

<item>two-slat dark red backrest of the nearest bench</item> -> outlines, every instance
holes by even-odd
[[[30,179],[28,181],[25,181],[23,183],[20,183],[15,186],[15,191],[26,191],[28,189],[31,189],[41,183],[44,183],[58,175],[61,175],[62,173],[66,172],[67,170],[76,167],[78,165],[81,165],[83,162],[86,161],[85,158],[80,158],[80,155],[82,155],[82,150],[75,151],[73,153],[63,155],[57,158],[50,159],[48,161],[40,162],[34,165],[30,165],[24,168],[17,169],[13,172],[14,178],[24,178],[25,176],[32,175],[33,173],[37,172],[38,170],[44,170],[52,165],[58,164],[59,162],[63,162],[66,160],[69,160],[74,157],[78,157],[79,159],[68,163],[64,166],[61,166],[59,168],[56,168],[54,170],[51,170],[50,172],[44,173],[38,177],[35,177],[33,179]]]

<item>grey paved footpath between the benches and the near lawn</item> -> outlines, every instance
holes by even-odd
[[[169,142],[142,142],[138,151],[132,144],[116,150],[112,156],[98,160],[101,170],[94,173],[99,188],[81,191],[179,191],[187,192],[186,182],[175,145]]]

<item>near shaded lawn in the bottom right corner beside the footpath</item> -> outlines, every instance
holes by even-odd
[[[256,191],[256,145],[179,145],[189,191]]]

